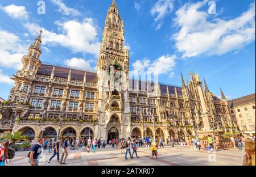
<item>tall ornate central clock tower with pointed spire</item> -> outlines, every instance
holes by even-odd
[[[129,50],[123,19],[113,0],[106,15],[97,62],[98,112],[95,132],[101,140],[130,134]]]

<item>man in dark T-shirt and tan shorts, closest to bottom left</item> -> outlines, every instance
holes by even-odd
[[[38,143],[32,147],[32,150],[29,153],[30,159],[28,160],[31,166],[39,166],[39,158],[40,154],[42,153],[43,143],[44,138],[39,138]]]

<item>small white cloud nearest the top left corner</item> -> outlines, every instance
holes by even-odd
[[[25,6],[16,6],[14,4],[0,7],[3,11],[6,12],[9,16],[11,16],[14,19],[28,19],[28,13],[26,11]]]

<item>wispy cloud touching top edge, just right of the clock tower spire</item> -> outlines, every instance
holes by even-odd
[[[162,19],[164,16],[172,12],[172,10],[174,10],[174,4],[172,0],[158,0],[155,3],[150,12],[152,16],[156,15],[156,18],[154,19],[156,23],[156,30],[162,27]]]

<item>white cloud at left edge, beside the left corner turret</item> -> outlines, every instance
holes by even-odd
[[[21,60],[29,45],[23,44],[13,33],[0,30],[0,66],[22,68]]]

